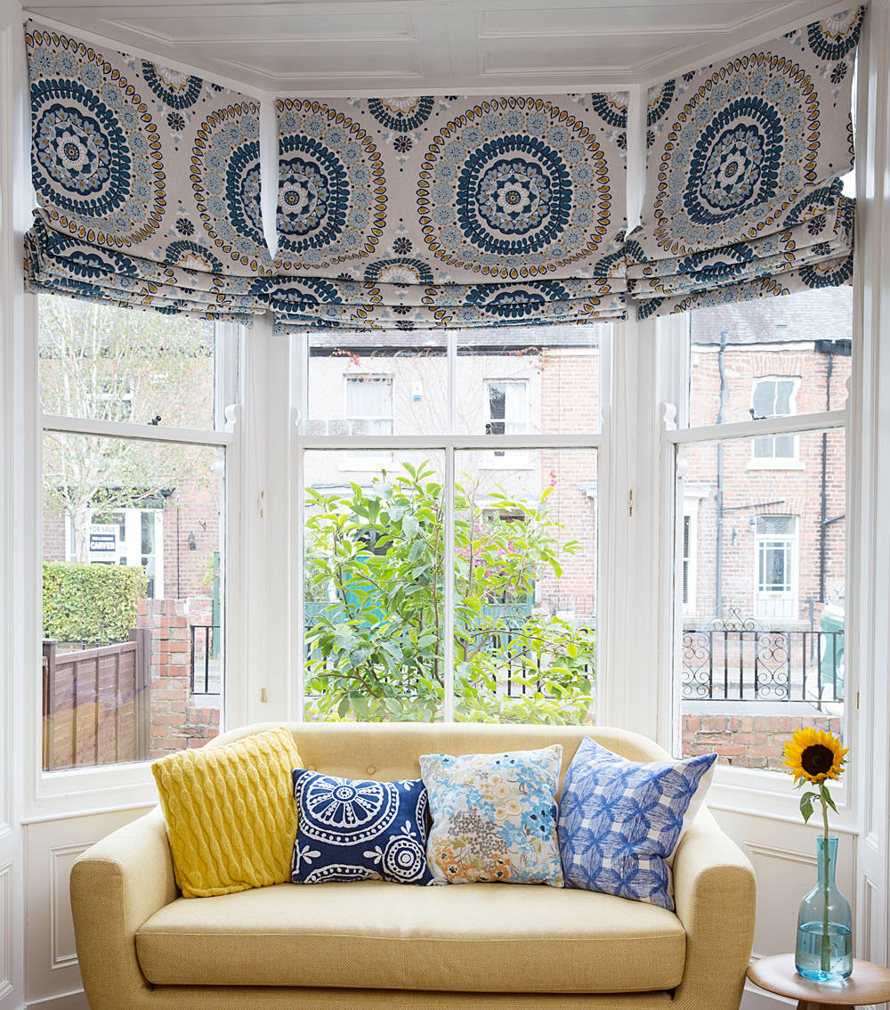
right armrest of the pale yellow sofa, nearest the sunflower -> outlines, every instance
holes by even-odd
[[[738,1010],[754,938],[757,884],[739,846],[705,807],[674,858],[674,903],[686,930],[682,1010]]]

